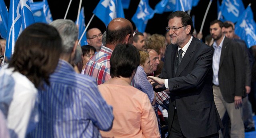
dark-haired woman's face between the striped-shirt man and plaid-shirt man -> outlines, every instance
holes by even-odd
[[[84,74],[85,65],[89,61],[89,59],[95,55],[96,49],[91,45],[83,45],[81,48],[83,53],[83,68],[81,74]]]

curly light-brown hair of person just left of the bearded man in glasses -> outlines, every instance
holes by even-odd
[[[158,54],[160,54],[160,49],[166,47],[165,37],[160,34],[153,34],[146,38],[145,46],[147,49],[154,49]]]

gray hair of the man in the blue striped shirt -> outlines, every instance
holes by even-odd
[[[57,19],[50,23],[54,26],[62,38],[63,53],[71,53],[78,39],[78,28],[72,20]]]

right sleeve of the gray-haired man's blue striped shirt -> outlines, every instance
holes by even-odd
[[[88,93],[85,95],[92,101],[84,101],[84,108],[93,124],[100,130],[108,131],[112,128],[114,120],[113,108],[108,105],[98,91],[95,82],[92,82]]]

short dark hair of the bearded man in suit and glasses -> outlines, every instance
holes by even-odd
[[[183,12],[183,11],[175,11],[175,12],[172,12],[167,17],[167,20],[169,21],[170,19],[173,19],[174,17],[181,18],[182,26],[190,25],[191,26],[190,34],[193,35],[193,33],[194,33],[193,21],[192,21],[192,18],[188,15],[188,13]]]

